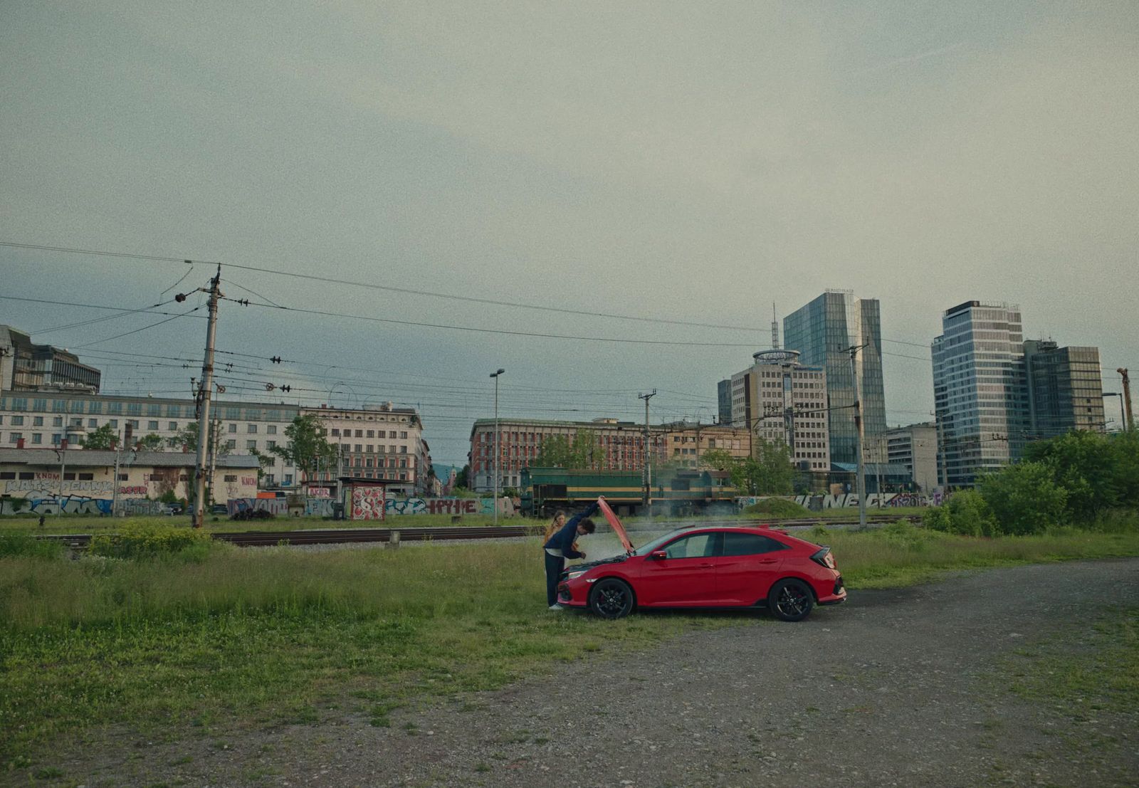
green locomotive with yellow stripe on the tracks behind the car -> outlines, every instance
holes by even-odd
[[[621,516],[646,514],[639,470],[524,468],[522,486],[522,510],[531,517],[548,517],[600,495]],[[650,492],[657,515],[735,511],[736,490],[723,471],[662,468],[653,471]]]

